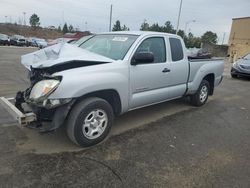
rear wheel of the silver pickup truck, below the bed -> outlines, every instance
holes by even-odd
[[[191,96],[191,104],[194,106],[202,106],[207,102],[210,91],[210,84],[207,80],[202,80],[197,92]]]

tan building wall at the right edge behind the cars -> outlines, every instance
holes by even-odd
[[[228,45],[230,62],[250,53],[250,17],[233,18]]]

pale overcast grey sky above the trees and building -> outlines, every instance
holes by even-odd
[[[109,29],[110,5],[113,5],[112,24],[120,20],[130,30],[139,30],[146,20],[163,25],[171,21],[177,25],[181,0],[0,0],[0,22],[29,22],[36,13],[41,26],[58,27],[64,22],[94,33]],[[201,36],[216,32],[219,43],[227,43],[232,18],[249,17],[250,0],[183,0],[179,29]],[[195,20],[195,22],[192,22]],[[1,32],[1,31],[0,31]]]

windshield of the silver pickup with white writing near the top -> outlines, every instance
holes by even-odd
[[[136,35],[96,35],[79,47],[110,59],[122,60],[137,38]]]

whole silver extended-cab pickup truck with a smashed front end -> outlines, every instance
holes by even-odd
[[[36,121],[44,131],[65,124],[87,147],[108,135],[114,116],[184,96],[202,106],[222,81],[223,61],[189,61],[177,35],[111,32],[80,41],[22,56],[31,86],[15,106],[1,98],[20,124]]]

